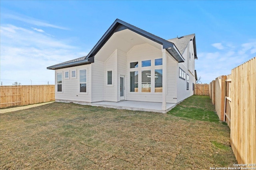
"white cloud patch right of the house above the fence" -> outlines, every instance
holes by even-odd
[[[240,45],[227,43],[222,46],[228,48],[216,50],[212,53],[198,53],[196,71],[197,76],[202,77],[201,81],[203,83],[209,83],[221,75],[231,74],[233,68],[255,57],[255,43],[243,43]]]

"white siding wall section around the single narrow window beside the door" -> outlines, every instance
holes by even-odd
[[[112,70],[112,85],[107,85],[107,72]],[[105,101],[117,101],[117,50],[105,62]],[[103,95],[103,94],[102,94]]]

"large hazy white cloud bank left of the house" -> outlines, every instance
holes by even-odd
[[[86,55],[70,39],[58,39],[38,31],[0,26],[0,77],[3,85],[54,84],[54,71],[46,67]],[[87,51],[88,52],[88,51]],[[11,80],[11,81],[9,81]]]

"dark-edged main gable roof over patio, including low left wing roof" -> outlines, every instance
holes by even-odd
[[[98,53],[98,51],[100,51],[100,49],[104,46],[104,44],[108,41],[108,39],[110,39],[110,37],[115,32],[122,31],[124,29],[129,29],[129,30],[134,31],[135,33],[138,33],[139,35],[142,35],[142,36],[144,36],[144,37],[146,37],[146,38],[148,38],[148,39],[150,39],[150,40],[152,40],[156,43],[159,43],[160,45],[163,46],[163,49],[166,49],[166,51],[168,51],[168,53],[170,53],[176,61],[178,61],[179,63],[184,62],[184,58],[182,57],[182,53],[184,51],[184,49],[183,49],[184,45],[179,45],[179,44],[180,44],[180,42],[182,42],[182,44],[183,43],[185,44],[185,42],[176,41],[176,43],[174,43],[174,42],[172,42],[173,39],[170,39],[171,41],[162,39],[161,37],[153,35],[152,33],[144,31],[143,29],[135,27],[134,25],[131,25],[131,24],[126,23],[122,20],[116,19],[114,21],[114,23],[112,23],[112,25],[106,31],[106,33],[104,33],[104,35],[100,38],[98,43],[96,43],[96,45],[88,53],[87,56],[80,57],[78,59],[74,59],[74,60],[70,60],[70,61],[66,61],[64,63],[55,64],[53,66],[47,67],[47,69],[56,70],[56,69],[60,69],[60,68],[67,68],[67,67],[71,67],[71,66],[78,66],[78,65],[83,65],[83,64],[94,63],[94,56]],[[192,34],[192,35],[194,35],[194,34]],[[186,40],[187,39],[188,38],[186,38]],[[195,43],[194,43],[194,45],[195,45]],[[179,48],[183,49],[183,51],[181,52]],[[194,53],[194,54],[195,54],[195,57],[196,57],[196,53]]]

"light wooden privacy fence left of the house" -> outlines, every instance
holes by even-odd
[[[54,85],[0,86],[0,108],[55,100]]]

